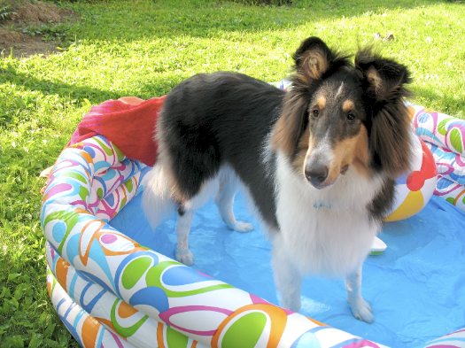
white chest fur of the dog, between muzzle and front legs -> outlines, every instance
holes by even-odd
[[[367,205],[382,179],[367,179],[349,168],[333,185],[314,189],[277,154],[276,215],[280,243],[303,274],[347,275],[368,255],[378,223]]]

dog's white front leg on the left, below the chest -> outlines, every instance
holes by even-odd
[[[284,250],[280,236],[275,236],[273,241],[273,268],[280,304],[284,308],[298,312],[301,305],[302,275]]]

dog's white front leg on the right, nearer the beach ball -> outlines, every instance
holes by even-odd
[[[347,302],[349,303],[353,316],[360,321],[373,322],[375,317],[371,306],[361,296],[361,266],[347,275],[345,278],[347,289]]]

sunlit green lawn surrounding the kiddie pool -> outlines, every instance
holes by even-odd
[[[60,3],[78,14],[42,29],[64,38],[48,57],[0,58],[0,345],[69,346],[46,294],[39,224],[41,170],[90,104],[167,93],[193,73],[234,70],[266,81],[289,73],[308,35],[353,52],[376,43],[409,66],[414,101],[465,118],[465,4],[405,0]],[[339,4],[343,3],[343,4]],[[395,36],[375,42],[375,33]]]

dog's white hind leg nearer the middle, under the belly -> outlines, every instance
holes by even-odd
[[[237,180],[233,174],[222,173],[220,175],[220,187],[214,199],[218,206],[222,220],[226,225],[237,232],[250,232],[253,229],[252,223],[238,221],[234,215],[233,205],[236,196]]]

